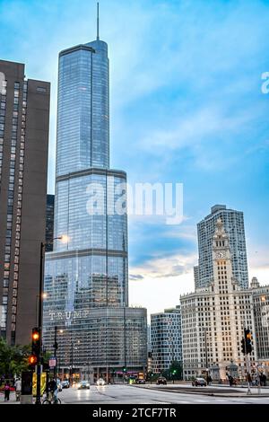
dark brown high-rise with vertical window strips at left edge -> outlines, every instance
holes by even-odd
[[[45,238],[50,84],[0,60],[1,336],[29,344]]]

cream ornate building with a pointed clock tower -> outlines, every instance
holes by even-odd
[[[227,380],[230,374],[244,379],[244,329],[256,337],[253,295],[233,276],[230,239],[221,218],[213,233],[212,261],[213,277],[208,286],[180,296],[184,377],[210,374],[213,380]],[[256,360],[253,343],[252,363]]]

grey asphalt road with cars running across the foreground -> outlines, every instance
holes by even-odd
[[[228,391],[224,392],[225,389],[218,388],[216,391],[223,391],[222,397],[219,397],[206,396],[199,393],[196,389],[195,394],[192,394],[183,391],[163,391],[163,386],[152,385],[151,388],[148,387],[150,386],[143,388],[142,386],[136,387],[132,385],[106,385],[104,387],[91,385],[90,390],[64,389],[58,394],[58,397],[64,403],[73,404],[269,404],[269,397],[247,396],[247,391],[238,391],[238,394],[246,393],[242,397],[228,397]],[[168,386],[169,389],[172,387]],[[207,387],[203,389],[203,392],[206,389]],[[256,391],[253,390],[253,392]],[[266,392],[269,393],[269,391]]]

